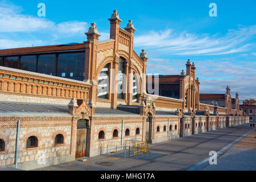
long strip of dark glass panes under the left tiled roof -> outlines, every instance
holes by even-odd
[[[85,52],[0,56],[0,65],[82,81]]]

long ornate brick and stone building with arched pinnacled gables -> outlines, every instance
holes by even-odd
[[[98,41],[91,23],[83,43],[0,50],[0,166],[15,162],[18,120],[21,169],[248,122],[241,112],[226,117],[227,107],[199,102],[190,61],[186,74],[169,77],[175,98],[147,93],[148,58],[133,50],[134,24],[123,30],[116,10],[109,21],[108,40]]]

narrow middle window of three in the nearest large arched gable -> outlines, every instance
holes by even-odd
[[[120,57],[118,67],[118,89],[117,98],[120,100],[124,99],[123,88],[125,87],[125,60]]]

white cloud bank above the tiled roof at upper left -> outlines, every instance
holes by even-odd
[[[0,40],[0,48],[53,44],[58,39],[85,36],[84,33],[88,29],[86,22],[55,23],[47,18],[22,14],[22,7],[7,1],[0,1],[0,24],[0,35],[5,37]],[[41,34],[43,39],[39,36]],[[37,38],[34,39],[35,37]],[[38,40],[38,37],[41,40]]]

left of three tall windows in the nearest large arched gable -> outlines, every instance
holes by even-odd
[[[102,68],[98,78],[98,98],[108,99],[110,63]]]

